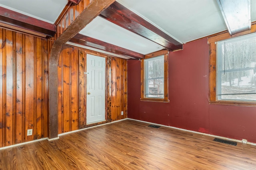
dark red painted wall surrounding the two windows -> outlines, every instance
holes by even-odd
[[[140,61],[128,60],[128,118],[256,143],[256,107],[208,102],[207,38],[169,54],[170,103],[140,101]]]

